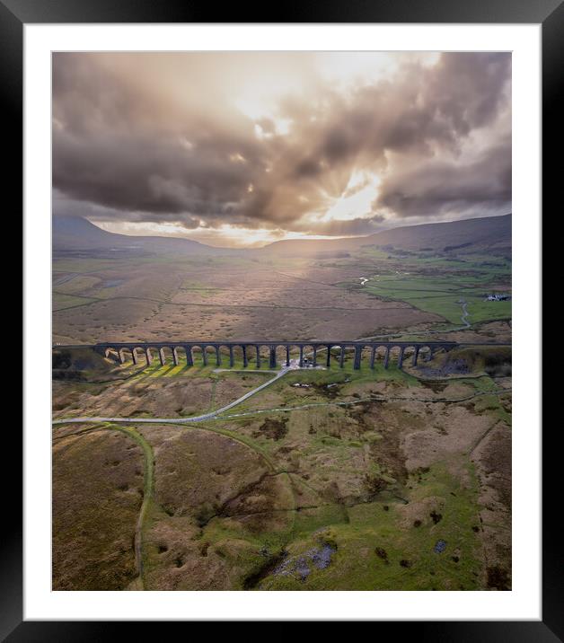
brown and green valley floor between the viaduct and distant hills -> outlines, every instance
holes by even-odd
[[[486,297],[510,294],[510,261],[427,255],[58,257],[53,341],[150,341],[163,333],[172,341],[426,338],[429,331],[506,340],[511,301]]]

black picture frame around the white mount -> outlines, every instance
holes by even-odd
[[[542,24],[542,161],[543,203],[558,203],[556,190],[561,163],[553,163],[562,140],[561,95],[564,61],[564,4],[562,0],[326,0],[314,5],[282,4],[270,14],[259,14],[256,6],[216,6],[189,0],[0,0],[0,92],[4,112],[4,185],[22,182],[22,86],[23,26],[29,23],[84,22],[393,22],[393,23],[537,23]],[[560,136],[559,136],[560,133]],[[13,190],[13,212],[22,207],[22,194]],[[545,206],[546,207],[546,206]],[[533,340],[535,344],[536,339]],[[537,345],[538,346],[538,345]],[[539,386],[541,383],[539,383]],[[543,401],[548,399],[544,392]],[[14,424],[13,427],[16,425]],[[5,427],[8,428],[7,426]],[[564,557],[561,545],[560,509],[556,497],[560,480],[559,426],[543,435],[543,524],[542,524],[542,621],[441,621],[378,623],[400,627],[419,640],[439,641],[544,641],[564,640]],[[7,444],[6,444],[7,442]],[[4,433],[4,453],[22,448],[22,436]],[[559,458],[560,459],[560,458]],[[18,476],[10,474],[13,486]],[[561,464],[560,464],[561,466]],[[551,490],[552,489],[552,490]],[[4,522],[0,541],[0,636],[9,641],[106,640],[125,634],[132,623],[103,621],[22,621],[22,497],[11,488],[4,494]],[[447,616],[447,615],[445,615]],[[144,623],[143,627],[153,627]]]

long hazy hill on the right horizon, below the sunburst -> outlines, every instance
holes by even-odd
[[[448,223],[406,225],[350,239],[299,239],[270,243],[260,252],[290,256],[330,256],[362,246],[405,251],[456,251],[457,253],[511,251],[511,215],[463,219]]]

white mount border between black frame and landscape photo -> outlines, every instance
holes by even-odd
[[[513,590],[52,592],[51,51],[260,51],[288,44],[513,52]],[[24,242],[24,620],[541,620],[541,365],[531,359],[534,338],[541,354],[541,25],[24,25]]]

